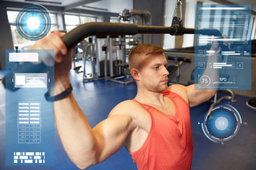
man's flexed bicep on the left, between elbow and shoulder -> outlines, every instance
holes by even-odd
[[[99,162],[105,161],[122,147],[133,129],[132,118],[127,115],[111,115],[93,128],[97,141]]]

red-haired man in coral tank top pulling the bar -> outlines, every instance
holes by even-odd
[[[65,47],[61,35],[55,31],[30,47],[55,50],[52,96],[70,86],[72,51]],[[55,101],[60,140],[80,169],[105,161],[122,145],[132,154],[138,169],[190,169],[193,140],[189,107],[207,101],[216,91],[195,90],[195,85],[168,87],[166,65],[161,47],[134,47],[129,53],[129,68],[137,83],[137,96],[115,106],[95,128],[90,127],[72,93]]]

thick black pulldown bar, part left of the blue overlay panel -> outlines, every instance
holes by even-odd
[[[177,28],[175,26],[137,26],[133,23],[85,23],[62,37],[65,45],[70,48],[90,35],[135,35],[141,34],[194,34],[193,28]]]

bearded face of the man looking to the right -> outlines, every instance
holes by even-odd
[[[166,69],[167,61],[164,54],[149,55],[144,60],[141,69],[142,86],[153,92],[162,92],[168,87],[169,72]]]

